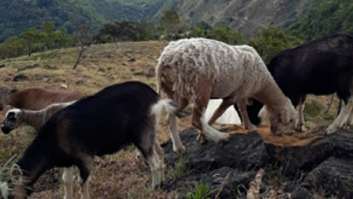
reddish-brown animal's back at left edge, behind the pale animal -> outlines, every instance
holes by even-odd
[[[0,87],[0,110],[6,105],[28,110],[40,110],[52,103],[68,102],[83,98],[77,91],[49,91],[41,88],[28,88],[21,91]]]

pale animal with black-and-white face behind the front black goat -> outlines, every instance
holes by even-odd
[[[25,125],[32,126],[36,130],[39,130],[56,111],[74,102],[75,101],[53,103],[41,110],[10,109],[6,112],[5,119],[1,124],[1,131],[4,134],[8,134],[13,129]]]

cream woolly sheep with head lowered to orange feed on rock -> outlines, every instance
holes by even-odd
[[[230,46],[212,39],[192,38],[172,41],[166,46],[156,66],[157,92],[164,92],[180,109],[194,103],[192,124],[215,142],[227,140],[210,125],[232,104],[240,107],[244,126],[256,127],[249,121],[246,105],[249,98],[264,102],[270,110],[271,129],[276,134],[292,132],[296,111],[277,86],[256,50],[250,46]],[[205,109],[210,99],[223,99],[210,121]],[[176,117],[168,115],[173,150],[182,152]]]

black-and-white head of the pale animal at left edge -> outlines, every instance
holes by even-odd
[[[13,129],[17,128],[21,123],[22,111],[18,108],[7,111],[5,119],[1,124],[1,131],[4,134],[10,133]]]

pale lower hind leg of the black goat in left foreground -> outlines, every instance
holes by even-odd
[[[149,168],[152,173],[152,190],[161,184],[161,174],[163,173],[163,166],[156,151],[156,146],[153,146],[152,154],[147,156]]]

